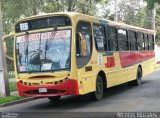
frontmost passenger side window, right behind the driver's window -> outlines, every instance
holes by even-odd
[[[105,27],[101,25],[93,25],[93,34],[95,39],[96,48],[98,51],[106,51],[107,43],[105,36]]]

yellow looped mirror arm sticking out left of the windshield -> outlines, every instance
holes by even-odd
[[[15,34],[9,34],[9,35],[6,35],[2,38],[3,39],[3,48],[5,51],[6,58],[11,61],[14,60],[14,58],[13,58],[14,35]]]

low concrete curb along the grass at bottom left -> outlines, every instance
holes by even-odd
[[[8,103],[1,104],[0,107],[6,107],[6,106],[10,106],[10,105],[20,104],[20,103],[29,102],[29,101],[32,101],[32,100],[35,100],[35,98],[34,97],[28,97],[28,98],[16,100],[16,101],[13,101],[13,102],[8,102]]]

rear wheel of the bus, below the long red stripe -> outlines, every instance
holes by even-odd
[[[137,69],[137,77],[136,77],[136,80],[133,81],[133,85],[134,86],[139,86],[139,85],[141,85],[141,82],[142,82],[142,70],[139,67]]]

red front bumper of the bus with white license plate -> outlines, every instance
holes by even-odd
[[[35,98],[79,94],[78,82],[71,79],[56,85],[25,85],[17,82],[17,89],[20,96]]]

